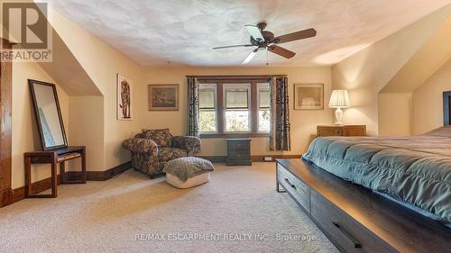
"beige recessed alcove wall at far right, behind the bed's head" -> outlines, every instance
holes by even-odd
[[[421,134],[443,125],[443,92],[451,90],[451,60],[412,95],[412,133]]]

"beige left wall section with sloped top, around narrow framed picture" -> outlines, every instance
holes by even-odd
[[[142,96],[136,93],[137,87],[141,84],[141,67],[128,59],[123,52],[114,50],[60,14],[52,12],[50,22],[104,96],[104,113],[99,115],[103,116],[104,120],[103,136],[92,136],[103,143],[104,155],[102,158],[94,153],[87,154],[87,160],[103,159],[103,166],[88,167],[88,169],[106,170],[129,161],[130,153],[122,148],[122,142],[141,128],[138,108],[145,105]],[[133,80],[133,121],[116,120],[116,73]],[[77,123],[74,122],[71,126],[76,128],[76,125]],[[83,127],[83,122],[79,123],[79,127]]]

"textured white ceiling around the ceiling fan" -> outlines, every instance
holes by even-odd
[[[143,66],[234,66],[250,48],[244,24],[265,20],[277,35],[315,28],[318,36],[269,54],[272,65],[330,65],[450,3],[451,0],[52,0],[51,7]],[[251,65],[266,63],[259,52]]]

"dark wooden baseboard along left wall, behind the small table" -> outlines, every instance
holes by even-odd
[[[88,181],[106,181],[110,178],[118,176],[124,173],[126,170],[132,167],[132,162],[126,162],[124,164],[112,167],[106,171],[87,171]],[[66,180],[80,180],[81,172],[68,171],[65,175]],[[58,184],[60,185],[60,177],[58,177]],[[51,189],[51,177],[42,179],[40,181],[32,183],[32,194],[41,194],[46,190]],[[0,193],[0,207],[4,207],[8,204],[16,203],[25,198],[25,186],[16,188],[14,190],[4,191]]]

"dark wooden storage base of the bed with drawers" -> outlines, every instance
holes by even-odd
[[[288,193],[341,252],[449,252],[451,229],[302,159],[278,159]]]

